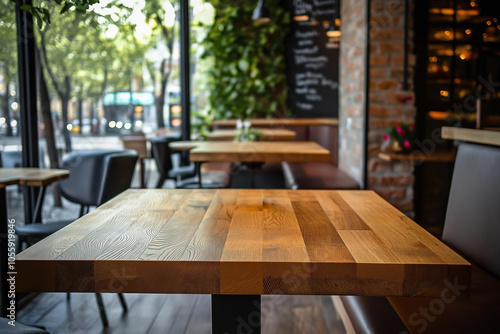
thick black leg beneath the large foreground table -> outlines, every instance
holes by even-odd
[[[212,334],[260,334],[260,295],[212,295]]]

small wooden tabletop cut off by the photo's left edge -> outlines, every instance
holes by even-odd
[[[0,168],[0,188],[12,184],[41,187],[69,177],[64,169]]]

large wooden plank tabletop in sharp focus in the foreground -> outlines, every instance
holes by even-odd
[[[440,296],[470,264],[373,191],[130,189],[16,257],[17,291]]]

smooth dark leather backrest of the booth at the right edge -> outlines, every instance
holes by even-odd
[[[443,241],[500,277],[500,147],[462,143]]]

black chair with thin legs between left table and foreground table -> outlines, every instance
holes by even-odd
[[[70,176],[61,181],[61,194],[71,202],[78,203],[80,217],[91,206],[99,206],[130,187],[137,162],[137,153],[125,151],[89,151],[69,155],[61,168],[68,169]],[[29,224],[16,228],[18,247],[31,245],[72,223],[61,221],[47,224]],[[68,294],[69,296],[69,294]],[[124,311],[127,305],[122,294],[118,294]],[[100,294],[96,294],[101,320],[108,326],[108,320]]]

